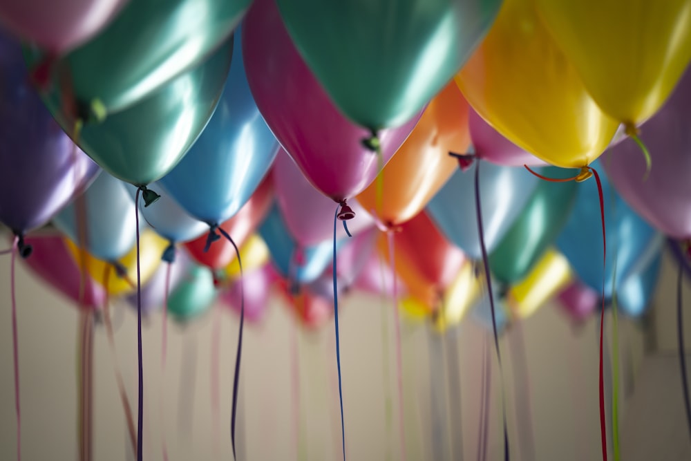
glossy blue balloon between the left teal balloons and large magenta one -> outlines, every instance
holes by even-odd
[[[234,47],[216,112],[178,166],[160,180],[191,216],[209,225],[223,223],[245,205],[278,152],[249,91],[239,38]]]

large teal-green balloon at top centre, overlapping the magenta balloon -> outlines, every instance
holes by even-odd
[[[276,3],[334,103],[373,130],[413,118],[460,70],[502,5],[501,0]]]

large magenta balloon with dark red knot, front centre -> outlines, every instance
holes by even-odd
[[[242,33],[249,88],[278,141],[325,196],[341,201],[359,194],[377,176],[379,162],[386,164],[403,144],[417,117],[379,133],[377,158],[361,143],[370,132],[341,115],[303,62],[274,0],[254,2]]]

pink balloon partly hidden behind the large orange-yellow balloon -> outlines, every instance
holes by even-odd
[[[536,156],[527,153],[513,142],[504,138],[489,123],[477,115],[472,108],[468,113],[468,128],[471,132],[471,142],[475,148],[475,155],[482,160],[507,167],[522,167],[545,165]]]

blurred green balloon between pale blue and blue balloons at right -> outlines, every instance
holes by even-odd
[[[551,167],[542,174],[564,178],[573,176],[573,171]],[[576,181],[538,183],[526,207],[489,255],[495,279],[508,285],[527,276],[566,225],[577,191]]]

